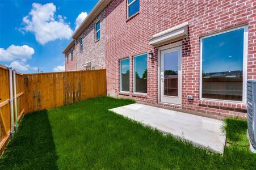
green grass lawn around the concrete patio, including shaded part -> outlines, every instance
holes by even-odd
[[[0,169],[255,169],[246,121],[226,120],[221,156],[108,111],[131,103],[98,97],[27,114]]]

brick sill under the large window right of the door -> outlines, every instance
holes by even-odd
[[[214,101],[214,100],[199,100],[200,107],[215,108],[226,111],[246,113],[245,103],[236,103],[232,101]]]

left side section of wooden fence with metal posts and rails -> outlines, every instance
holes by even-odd
[[[0,65],[0,154],[25,111],[23,75]]]

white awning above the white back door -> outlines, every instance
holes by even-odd
[[[188,22],[179,24],[165,31],[159,32],[152,36],[149,41],[150,45],[162,45],[167,42],[184,39],[187,36]]]

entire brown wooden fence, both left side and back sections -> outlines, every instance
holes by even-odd
[[[20,74],[0,65],[0,155],[24,113],[106,93],[106,70]]]

